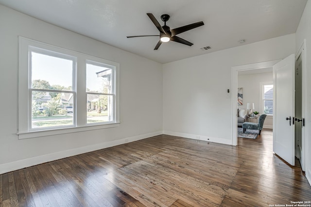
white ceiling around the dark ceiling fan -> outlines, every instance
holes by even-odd
[[[307,0],[0,0],[17,11],[159,63],[240,46],[296,32]],[[178,34],[193,43],[163,43],[146,13],[171,29],[198,21],[204,26]],[[202,51],[200,48],[212,49]]]

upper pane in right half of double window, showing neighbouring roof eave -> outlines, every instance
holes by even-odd
[[[86,92],[111,94],[110,68],[86,64]]]

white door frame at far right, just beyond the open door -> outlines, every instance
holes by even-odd
[[[302,114],[302,118],[304,118],[305,120],[309,120],[307,118],[308,116],[308,113],[307,113],[307,87],[306,87],[306,83],[307,83],[307,54],[306,54],[306,39],[304,39],[303,43],[301,44],[298,52],[295,54],[295,62],[297,61],[298,57],[301,55],[301,63],[302,63],[302,97],[301,97],[301,102],[302,102],[302,111],[301,111],[301,114]],[[295,123],[296,124],[296,123]],[[303,171],[306,171],[306,158],[310,158],[311,156],[311,153],[310,152],[306,152],[306,149],[307,149],[307,132],[306,132],[306,127],[302,127],[302,131],[301,131],[301,136],[302,136],[302,153],[301,153],[301,169]],[[296,144],[296,143],[295,143]],[[308,154],[308,155],[307,155]]]

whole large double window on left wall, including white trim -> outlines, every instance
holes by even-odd
[[[119,126],[119,64],[19,37],[19,139]]]

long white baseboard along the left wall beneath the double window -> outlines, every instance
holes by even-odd
[[[98,144],[88,145],[84,147],[69,149],[69,150],[65,150],[61,152],[55,152],[52,154],[41,155],[41,156],[37,156],[33,158],[21,159],[21,160],[17,160],[13,162],[0,164],[0,175],[15,171],[15,170],[19,170],[25,167],[31,167],[37,164],[42,164],[42,163],[54,161],[57,159],[68,158],[71,156],[80,155],[83,153],[92,152],[92,151],[96,151],[96,150],[100,150],[100,149],[104,149],[107,147],[112,147],[112,146],[116,146],[116,145],[120,145],[124,143],[135,142],[138,140],[143,140],[143,139],[154,137],[154,136],[161,135],[161,134],[163,134],[163,131],[156,131],[156,132],[151,132],[147,134],[141,134],[138,136],[126,137],[120,140],[98,143]]]

